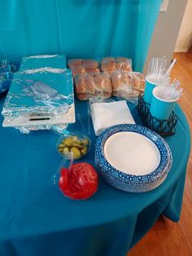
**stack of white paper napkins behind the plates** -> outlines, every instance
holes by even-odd
[[[91,104],[90,110],[94,133],[97,136],[110,126],[135,124],[125,100],[94,103]]]

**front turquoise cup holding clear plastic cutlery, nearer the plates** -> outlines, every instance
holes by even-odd
[[[153,90],[150,112],[151,115],[159,120],[168,120],[172,110],[177,103],[177,99],[165,100],[158,97],[160,86],[156,86]]]

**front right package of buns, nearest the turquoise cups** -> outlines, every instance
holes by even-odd
[[[114,71],[111,73],[112,95],[124,99],[137,98],[145,88],[145,77],[142,73]]]

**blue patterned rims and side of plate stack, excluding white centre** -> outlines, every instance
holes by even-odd
[[[130,131],[140,135],[146,136],[151,139],[155,146],[159,149],[160,163],[159,166],[146,175],[133,175],[125,174],[124,172],[117,170],[115,167],[107,161],[104,155],[104,145],[111,135],[122,131]],[[159,186],[167,177],[168,171],[172,166],[172,153],[168,147],[168,143],[155,133],[144,126],[138,125],[117,125],[111,126],[104,130],[101,135],[98,136],[95,146],[95,161],[98,168],[98,172],[103,176],[103,179],[110,183],[113,187],[119,188],[127,192],[147,192]]]

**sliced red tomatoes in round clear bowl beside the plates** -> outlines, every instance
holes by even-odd
[[[65,196],[72,199],[88,198],[98,188],[98,174],[87,163],[73,164],[70,173],[66,168],[61,170],[59,188]]]

